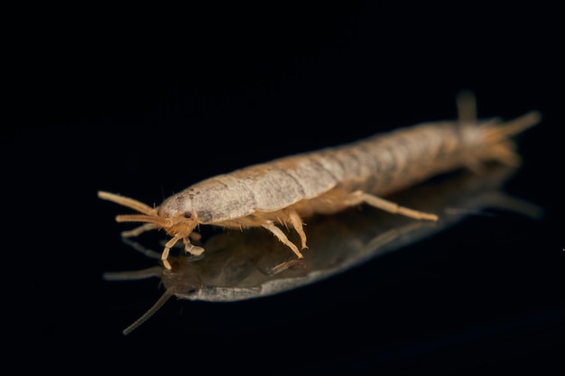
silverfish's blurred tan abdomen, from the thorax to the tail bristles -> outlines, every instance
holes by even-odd
[[[323,151],[320,158],[338,160],[343,166],[344,176],[337,188],[383,196],[462,167],[466,151],[474,146],[473,137],[466,136],[477,132],[472,128],[421,124]]]

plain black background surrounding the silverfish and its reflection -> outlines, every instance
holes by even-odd
[[[562,28],[552,9],[351,2],[34,9],[6,35],[6,331],[21,367],[163,374],[440,373],[558,365],[564,349]],[[298,151],[456,116],[537,109],[497,212],[272,298],[170,301],[119,241],[122,208]],[[7,114],[14,114],[8,117]],[[14,216],[15,215],[15,216]],[[562,225],[561,225],[562,227]],[[19,355],[19,357],[16,357]]]

